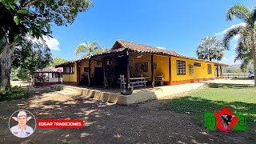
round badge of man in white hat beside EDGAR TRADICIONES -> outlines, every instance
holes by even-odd
[[[36,119],[27,110],[17,110],[9,118],[9,129],[18,138],[26,138],[34,133],[36,129]]]

